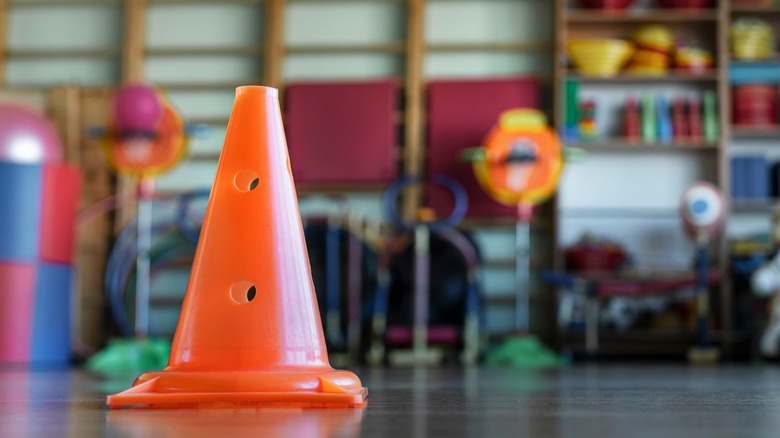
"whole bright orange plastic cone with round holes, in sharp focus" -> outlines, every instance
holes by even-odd
[[[239,87],[168,366],[111,407],[361,407],[328,363],[277,91]]]

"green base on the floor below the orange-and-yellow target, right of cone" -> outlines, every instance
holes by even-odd
[[[485,365],[512,368],[557,368],[566,365],[535,336],[513,336],[485,356]]]

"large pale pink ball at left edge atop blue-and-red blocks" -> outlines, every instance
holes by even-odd
[[[32,108],[0,103],[0,161],[19,164],[61,162],[62,146],[54,125]]]

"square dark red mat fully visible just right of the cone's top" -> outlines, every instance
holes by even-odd
[[[309,82],[285,89],[295,181],[385,184],[396,177],[398,82]]]

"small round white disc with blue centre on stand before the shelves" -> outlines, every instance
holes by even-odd
[[[702,231],[716,233],[723,223],[723,204],[723,195],[714,185],[699,182],[690,186],[680,202],[685,231],[692,235]]]

